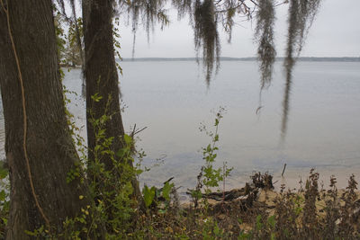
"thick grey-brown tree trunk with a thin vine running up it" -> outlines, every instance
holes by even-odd
[[[22,86],[6,14],[0,6],[0,84],[11,182],[6,239],[29,239],[25,230],[46,227],[44,216],[53,231],[61,231],[64,220],[76,216],[85,204],[79,195],[85,195],[86,188],[77,179],[66,182],[67,173],[79,160],[65,116],[51,1],[4,2],[8,2],[5,8],[23,74],[28,155],[26,159]]]

